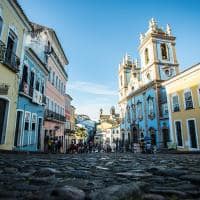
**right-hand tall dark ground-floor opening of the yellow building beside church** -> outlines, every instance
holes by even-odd
[[[188,131],[190,137],[190,147],[197,148],[196,126],[194,120],[188,120]]]

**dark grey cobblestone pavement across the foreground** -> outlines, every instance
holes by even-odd
[[[200,154],[0,153],[0,199],[200,199]]]

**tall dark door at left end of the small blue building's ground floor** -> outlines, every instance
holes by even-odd
[[[15,141],[14,146],[18,147],[20,146],[20,140],[22,139],[22,117],[23,112],[17,111],[17,120],[16,120],[16,128],[15,128]]]

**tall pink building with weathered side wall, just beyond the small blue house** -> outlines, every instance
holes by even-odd
[[[53,29],[35,23],[32,23],[32,25],[33,32],[27,38],[27,43],[46,63],[49,70],[45,90],[44,133],[62,141],[62,151],[64,152],[65,90],[68,80],[65,66],[68,64],[68,60]],[[41,138],[43,149],[44,134],[41,135]]]

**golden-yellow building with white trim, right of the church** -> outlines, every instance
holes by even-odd
[[[166,81],[170,133],[178,150],[200,150],[200,64]]]

